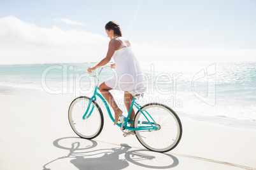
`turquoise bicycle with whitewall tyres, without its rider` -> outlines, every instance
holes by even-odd
[[[101,67],[99,74],[103,69],[104,67]],[[91,98],[87,96],[76,98],[68,110],[69,124],[73,131],[81,138],[89,140],[96,138],[101,133],[104,124],[103,112],[96,102],[96,96],[103,100],[108,115],[115,122],[107,101],[98,92],[99,74],[90,74],[96,79],[94,95]],[[141,107],[136,100],[143,95],[144,93],[134,95],[127,117],[121,115],[117,126],[124,133],[135,132],[139,142],[149,150],[155,152],[172,150],[178,145],[182,135],[182,126],[178,115],[170,107],[160,103],[148,103]],[[138,109],[134,120],[129,119],[132,107]]]

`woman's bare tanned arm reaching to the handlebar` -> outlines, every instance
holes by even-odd
[[[116,49],[116,41],[115,41],[115,39],[111,39],[110,43],[108,44],[108,53],[107,53],[106,57],[103,58],[103,60],[101,60],[101,62],[99,62],[96,66],[89,67],[89,69],[87,71],[91,73],[95,69],[102,67],[103,65],[106,65],[108,62],[110,62],[113,54],[115,53],[115,49]]]

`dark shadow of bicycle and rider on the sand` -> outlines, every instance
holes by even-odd
[[[71,159],[69,162],[77,169],[124,169],[129,164],[152,169],[169,169],[179,163],[173,155],[143,149],[132,150],[124,143],[120,144],[120,147],[97,149],[97,141],[67,137],[53,141],[53,145],[69,150],[69,154],[46,163],[43,170],[50,170],[50,164],[60,159]]]

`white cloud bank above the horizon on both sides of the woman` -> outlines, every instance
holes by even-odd
[[[37,27],[15,16],[0,18],[0,65],[23,63],[99,62],[109,39],[83,30]],[[255,60],[253,49],[170,49],[132,43],[141,62],[166,60]]]

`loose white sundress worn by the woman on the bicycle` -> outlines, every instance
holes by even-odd
[[[124,46],[125,42],[118,37],[115,38],[121,42],[123,48],[116,50],[112,56],[117,74],[104,81],[106,86],[120,91],[128,91],[133,96],[145,92],[145,77],[131,46]]]

